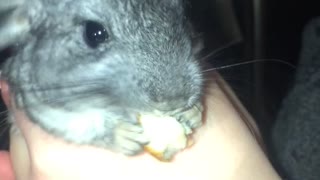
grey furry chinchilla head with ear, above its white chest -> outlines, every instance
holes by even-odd
[[[12,2],[0,8],[0,48],[16,49],[2,78],[19,106],[174,111],[199,101],[183,0]]]

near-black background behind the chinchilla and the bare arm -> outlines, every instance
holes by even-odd
[[[294,79],[302,30],[320,15],[316,0],[190,0],[190,16],[203,32],[204,55],[213,67],[266,60],[219,70],[256,119],[265,139],[276,119],[282,99]],[[0,60],[10,55],[0,52]],[[268,60],[269,59],[269,60]],[[0,103],[1,112],[5,111]],[[3,120],[1,113],[0,118]],[[0,122],[0,149],[8,148],[5,123]]]

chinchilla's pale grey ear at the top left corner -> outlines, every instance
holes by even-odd
[[[27,0],[0,0],[0,50],[18,43],[30,30],[21,7]]]

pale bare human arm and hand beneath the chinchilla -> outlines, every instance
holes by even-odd
[[[31,123],[9,98],[2,82],[2,96],[14,113],[21,134],[11,132],[10,156],[16,180],[280,179],[243,117],[232,104],[225,84],[208,83],[204,96],[205,124],[194,134],[195,144],[170,163],[148,153],[126,157],[106,149],[68,144]],[[209,82],[209,81],[208,81]]]

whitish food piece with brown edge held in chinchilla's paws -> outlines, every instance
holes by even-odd
[[[191,144],[184,127],[174,117],[143,114],[138,119],[150,138],[145,150],[160,161],[170,161]]]

